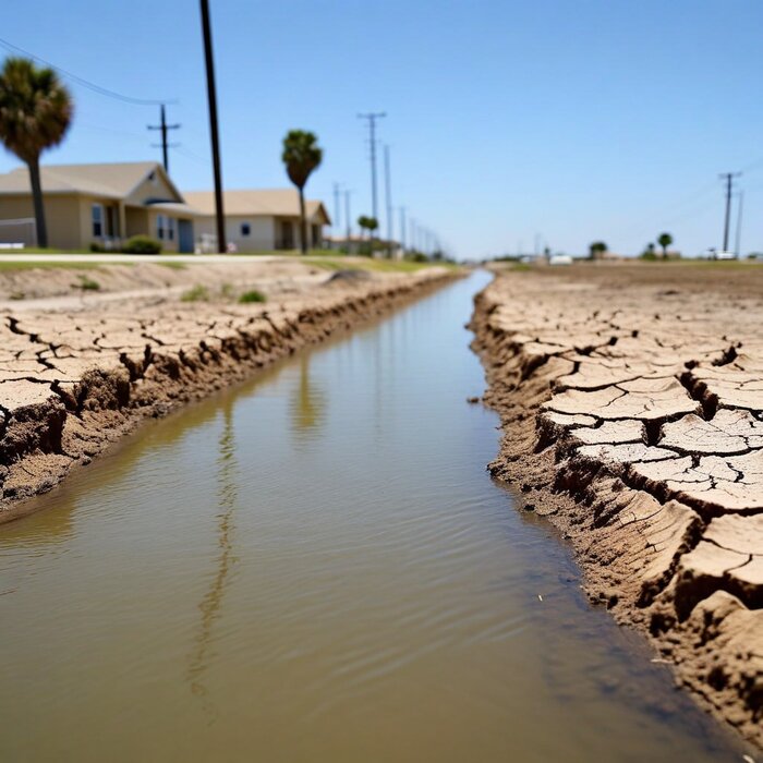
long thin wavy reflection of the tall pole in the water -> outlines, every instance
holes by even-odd
[[[217,707],[209,698],[206,674],[210,662],[213,644],[213,627],[220,615],[222,598],[229,582],[233,556],[232,535],[233,512],[235,509],[237,489],[235,438],[233,433],[233,399],[228,398],[222,405],[222,432],[218,440],[217,477],[220,512],[217,517],[217,560],[209,588],[202,598],[198,609],[202,614],[198,631],[190,656],[189,682],[191,692],[202,698],[204,708],[211,724],[217,717]]]

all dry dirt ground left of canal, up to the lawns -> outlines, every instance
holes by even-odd
[[[0,272],[0,293],[21,278],[28,290],[35,277],[46,280],[34,302],[0,307],[0,522],[32,510],[25,498],[89,463],[142,419],[453,277],[441,268],[331,272],[300,262],[97,272],[110,291],[85,296],[66,291],[68,269]],[[192,284],[203,299],[183,301]],[[253,288],[267,302],[240,304]]]

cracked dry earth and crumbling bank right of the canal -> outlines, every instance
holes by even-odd
[[[502,272],[472,328],[505,432],[492,473],[562,530],[589,594],[763,747],[761,270]]]

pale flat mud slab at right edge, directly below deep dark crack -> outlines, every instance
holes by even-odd
[[[663,425],[659,445],[686,453],[744,453],[763,448],[763,422],[740,410],[720,409],[712,421],[689,414]]]

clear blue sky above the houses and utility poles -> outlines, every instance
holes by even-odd
[[[280,141],[308,129],[325,148],[308,195],[332,213],[339,181],[353,217],[370,213],[355,114],[386,110],[393,204],[459,256],[531,251],[536,234],[632,253],[663,230],[695,254],[720,245],[717,173],[740,169],[742,250],[763,250],[760,0],[211,0],[211,12],[228,187],[287,185]],[[172,175],[211,187],[194,0],[13,3],[0,36],[105,87],[177,98]],[[73,128],[47,161],[159,157],[145,129],[158,109],[72,90]],[[0,171],[17,164],[0,154]]]

